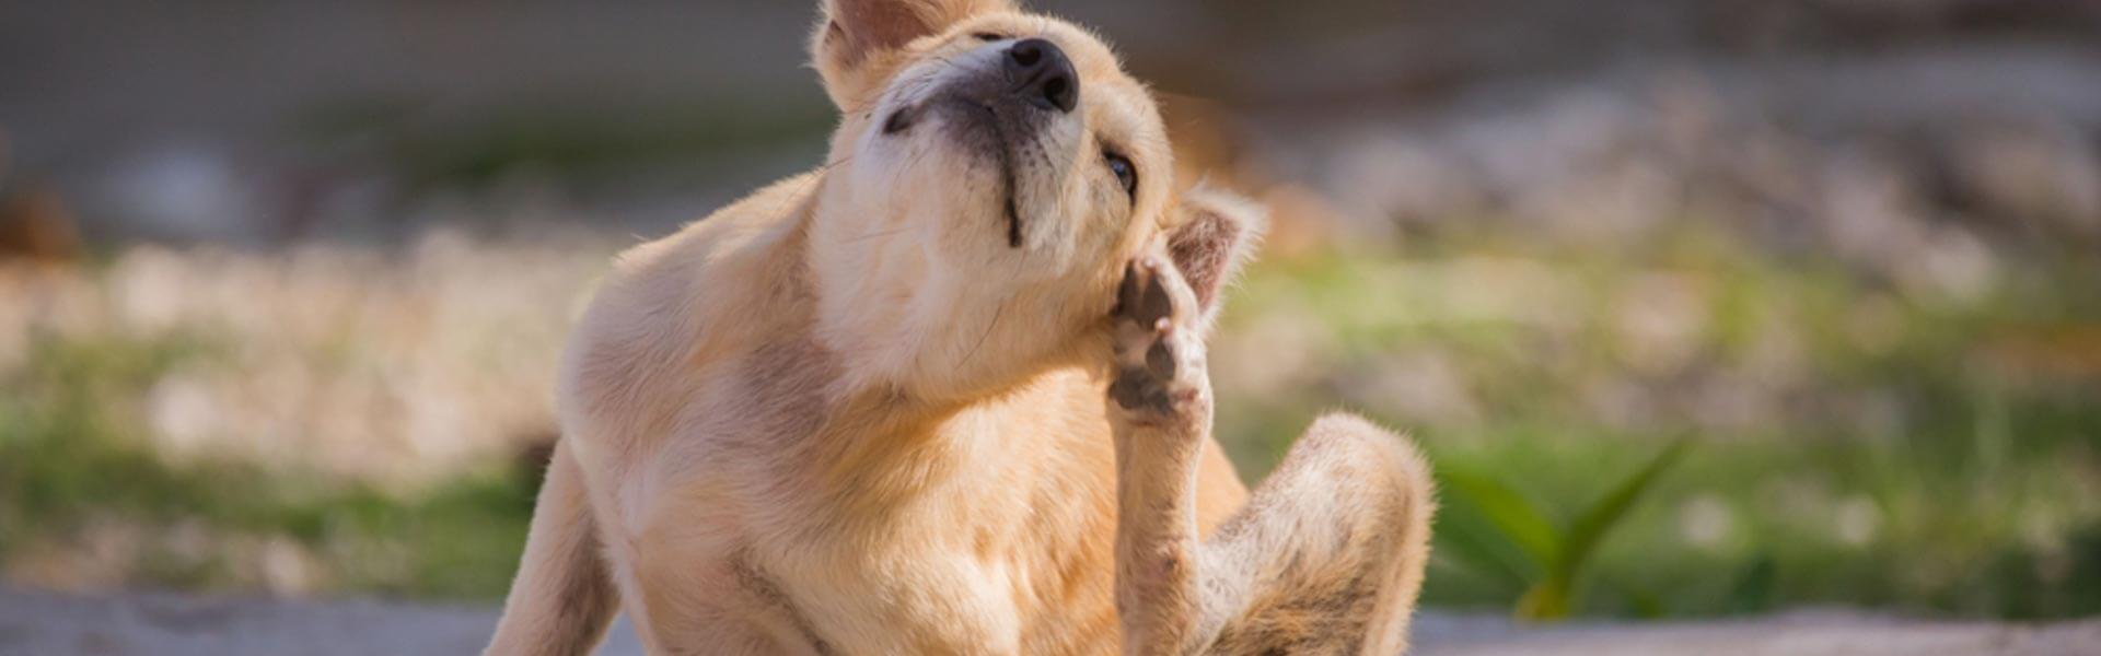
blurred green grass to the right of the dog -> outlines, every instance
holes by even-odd
[[[1985,292],[1935,294],[1708,231],[1603,250],[1448,233],[1275,261],[1227,334],[1305,317],[1313,334],[1286,349],[1315,353],[1305,374],[1242,372],[1282,389],[1221,381],[1221,437],[1254,475],[1340,397],[1410,427],[1448,479],[1500,481],[1569,526],[1691,435],[1595,553],[1576,599],[1593,614],[2095,614],[2101,269],[2046,250],[2002,269]],[[1651,294],[1679,296],[1670,330],[1628,320]],[[1378,383],[1410,366],[1445,389]],[[1551,572],[1469,492],[1445,486],[1427,603],[1513,608]]]

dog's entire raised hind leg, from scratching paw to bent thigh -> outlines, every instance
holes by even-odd
[[[1195,463],[1212,402],[1193,294],[1132,265],[1109,387],[1116,601],[1126,654],[1399,654],[1429,557],[1431,490],[1399,435],[1332,414],[1244,509],[1200,538]]]

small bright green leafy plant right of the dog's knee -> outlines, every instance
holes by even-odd
[[[1513,610],[1517,618],[1567,618],[1578,610],[1578,587],[1599,542],[1620,526],[1656,479],[1679,463],[1689,444],[1679,439],[1664,448],[1578,513],[1567,528],[1557,528],[1536,503],[1494,477],[1458,469],[1439,471],[1448,507],[1464,517],[1443,549],[1456,549],[1460,559],[1523,582]],[[1651,595],[1626,585],[1616,589],[1637,610],[1660,612]]]

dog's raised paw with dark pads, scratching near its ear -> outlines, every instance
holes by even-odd
[[[1189,282],[1164,257],[1124,269],[1116,299],[1116,381],[1109,397],[1139,425],[1204,421],[1210,378]]]

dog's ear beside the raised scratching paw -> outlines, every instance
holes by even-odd
[[[1206,330],[1219,315],[1219,296],[1254,257],[1267,225],[1269,212],[1261,204],[1204,185],[1185,191],[1168,217],[1168,257],[1195,290]]]

